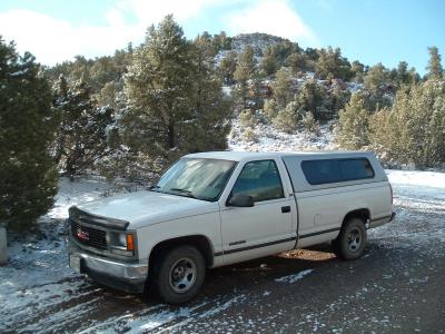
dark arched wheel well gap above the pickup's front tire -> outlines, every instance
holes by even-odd
[[[206,266],[211,267],[214,265],[214,250],[210,242],[202,235],[190,235],[185,237],[171,238],[157,244],[150,253],[149,268],[152,267],[154,262],[157,256],[159,256],[159,254],[166,252],[168,248],[180,245],[195,246],[202,254],[204,259],[206,261]]]

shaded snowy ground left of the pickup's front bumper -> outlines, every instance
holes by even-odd
[[[10,236],[9,264],[0,267],[0,332],[33,310],[68,302],[85,285],[73,282],[68,267],[66,224],[71,205],[99,198],[110,185],[97,179],[60,178],[53,208],[39,220],[41,232],[23,238]]]

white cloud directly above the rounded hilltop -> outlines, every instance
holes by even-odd
[[[266,32],[304,46],[320,45],[317,36],[301,20],[287,0],[260,0],[250,2],[243,11],[234,11],[227,17],[230,35]]]

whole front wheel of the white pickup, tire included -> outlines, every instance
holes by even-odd
[[[202,254],[184,245],[162,252],[155,262],[154,285],[160,298],[168,304],[191,301],[206,276]]]

